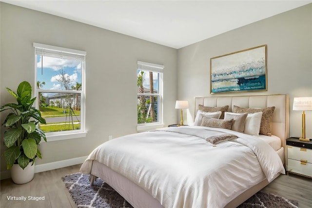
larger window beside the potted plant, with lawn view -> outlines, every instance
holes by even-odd
[[[36,107],[46,120],[46,136],[59,140],[84,133],[84,70],[86,52],[34,43]],[[68,135],[72,135],[68,137]],[[85,135],[85,134],[84,134]]]

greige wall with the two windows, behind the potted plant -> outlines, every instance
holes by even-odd
[[[5,87],[16,90],[24,80],[35,83],[33,42],[87,52],[87,136],[42,143],[43,159],[36,160],[37,165],[86,156],[107,141],[108,135],[116,138],[137,132],[137,61],[165,66],[163,120],[165,125],[176,123],[176,49],[11,4],[0,5],[0,105],[15,101]],[[6,113],[0,116],[2,124]],[[1,127],[1,152],[3,130]]]

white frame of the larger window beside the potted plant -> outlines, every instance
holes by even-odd
[[[70,49],[70,48],[63,48],[53,45],[46,45],[41,43],[33,43],[35,52],[34,52],[34,60],[35,60],[35,87],[34,87],[34,93],[36,99],[36,109],[39,109],[39,98],[38,94],[39,92],[46,92],[46,93],[78,93],[80,94],[80,129],[77,130],[68,130],[68,131],[58,131],[58,132],[47,132],[45,133],[47,142],[53,142],[53,141],[59,141],[59,140],[66,140],[66,139],[75,139],[75,138],[81,138],[86,136],[86,130],[85,130],[85,51]],[[55,52],[55,54],[59,53],[55,56],[50,56],[54,58],[62,58],[63,54],[69,54],[69,55],[76,55],[79,56],[80,59],[83,56],[84,61],[81,65],[81,90],[52,90],[52,89],[38,89],[37,86],[37,55],[40,55],[36,52],[36,48],[41,49],[47,49],[52,52]],[[66,59],[66,57],[65,57]]]

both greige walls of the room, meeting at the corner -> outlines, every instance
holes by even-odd
[[[210,95],[210,58],[267,44],[268,91],[216,96],[312,96],[312,4],[258,21],[179,50],[87,24],[0,3],[0,105],[14,102],[5,87],[34,81],[33,42],[73,48],[86,56],[86,138],[43,143],[36,164],[88,155],[107,141],[137,132],[137,61],[165,65],[164,123],[176,123],[176,99]],[[34,86],[33,86],[34,87]],[[312,112],[307,136],[312,137]],[[0,114],[3,123],[5,115]],[[185,117],[184,117],[185,118]],[[290,110],[290,135],[300,136],[301,112]],[[3,151],[1,127],[1,151]],[[6,169],[1,158],[1,171]]]

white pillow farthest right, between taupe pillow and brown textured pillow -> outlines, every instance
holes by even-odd
[[[245,121],[244,133],[259,136],[261,118],[262,112],[248,113]]]

